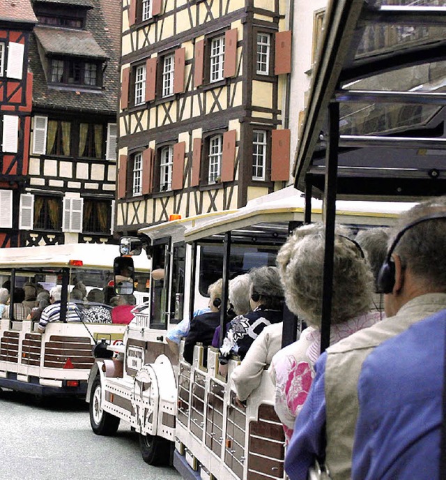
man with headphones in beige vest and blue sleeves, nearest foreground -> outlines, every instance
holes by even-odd
[[[443,218],[432,218],[434,215]],[[364,419],[362,413],[357,426],[357,478],[439,478],[444,377],[438,370],[443,366],[445,354],[445,238],[446,197],[422,202],[401,217],[380,273],[380,290],[386,293],[387,318],[341,340],[318,359],[316,378],[295,423],[286,456],[286,472],[291,480],[307,479],[314,459],[324,454],[333,479],[351,478],[358,411],[363,405],[366,409],[371,407],[364,399],[366,393],[374,399],[374,410],[365,410],[364,415],[370,414],[370,417]],[[432,333],[432,324],[436,324],[436,333]],[[410,328],[411,325],[415,327]],[[392,343],[385,341],[403,332],[406,332],[404,336]],[[422,338],[415,340],[417,333]],[[426,333],[429,340],[422,343]],[[383,349],[376,350],[376,357],[371,357],[380,344]],[[420,351],[397,350],[392,351],[392,356],[386,356],[389,347],[406,349],[415,344]],[[437,350],[431,350],[433,348]],[[364,363],[369,355],[370,360]],[[409,361],[411,355],[413,358]],[[370,373],[376,366],[383,365],[383,356],[387,359],[385,370],[380,372],[376,383],[370,383]],[[406,361],[408,363],[401,363]],[[363,365],[364,377],[358,391]],[[434,374],[432,370],[437,371]],[[403,377],[395,376],[398,373]],[[390,388],[394,388],[390,397],[387,387],[380,384],[383,375],[385,382],[390,382]],[[374,391],[376,387],[384,389]],[[364,428],[367,429],[371,421],[373,434],[366,438]],[[374,455],[373,463],[369,463],[370,453]],[[364,472],[367,477],[362,477]]]

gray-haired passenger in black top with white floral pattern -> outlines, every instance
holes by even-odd
[[[226,333],[220,348],[220,375],[226,375],[231,354],[243,360],[252,342],[267,325],[282,322],[284,291],[277,268],[252,269],[249,280],[252,312],[236,317]]]

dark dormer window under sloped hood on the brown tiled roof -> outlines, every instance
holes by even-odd
[[[100,87],[99,64],[84,59],[52,59],[50,82]]]

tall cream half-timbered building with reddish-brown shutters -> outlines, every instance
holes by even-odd
[[[123,0],[116,229],[289,181],[289,2]]]

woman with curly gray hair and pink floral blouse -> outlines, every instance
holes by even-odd
[[[374,278],[360,246],[348,230],[335,230],[330,344],[380,320],[371,313]],[[321,350],[321,308],[325,228],[321,223],[295,230],[277,255],[286,304],[309,325],[297,342],[272,358],[270,375],[275,384],[275,410],[284,425],[287,442],[315,372]]]

